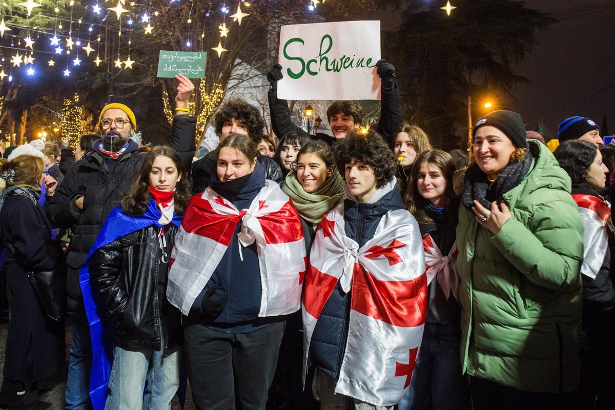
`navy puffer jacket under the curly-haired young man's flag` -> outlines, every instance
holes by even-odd
[[[375,203],[358,203],[354,200],[344,201],[344,229],[347,237],[365,245],[376,232],[380,219],[388,211],[403,209],[402,195],[397,185],[380,188],[389,192]],[[382,194],[383,192],[380,192]],[[378,192],[376,194],[378,195]],[[344,293],[341,285],[335,286],[327,303],[316,322],[310,344],[310,360],[313,365],[328,376],[338,379],[339,367],[344,357],[348,323],[350,320],[350,293]]]

